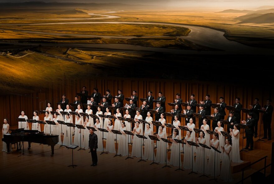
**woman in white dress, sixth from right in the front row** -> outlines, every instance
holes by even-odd
[[[161,138],[167,138],[166,133],[163,131],[164,126],[161,125],[159,128],[159,132],[158,134],[156,134],[157,138],[160,139],[158,146],[157,146],[157,153],[156,153],[156,159],[155,162],[158,163],[166,163],[166,159],[167,159],[167,145],[166,143],[161,139]],[[167,160],[168,163],[168,160]]]

